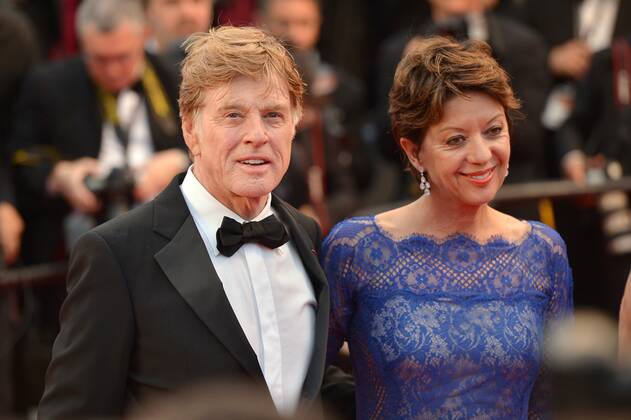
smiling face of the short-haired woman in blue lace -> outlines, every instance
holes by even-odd
[[[401,139],[410,162],[423,167],[432,199],[478,207],[494,197],[508,173],[510,136],[502,105],[470,92],[445,103],[442,119],[430,126],[421,147]]]

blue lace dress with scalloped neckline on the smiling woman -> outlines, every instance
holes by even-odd
[[[359,419],[526,419],[542,409],[545,324],[572,311],[565,243],[539,222],[518,243],[393,239],[338,224],[322,263],[328,360],[348,341]]]

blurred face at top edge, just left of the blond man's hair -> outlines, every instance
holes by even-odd
[[[195,32],[206,32],[212,23],[212,0],[151,0],[147,19],[160,49]]]

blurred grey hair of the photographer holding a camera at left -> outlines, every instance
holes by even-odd
[[[145,13],[138,0],[83,0],[77,10],[75,27],[81,36],[88,25],[98,32],[111,32],[123,22],[142,26]]]

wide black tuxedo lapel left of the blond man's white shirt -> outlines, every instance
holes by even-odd
[[[178,176],[155,201],[154,230],[170,239],[155,260],[167,278],[228,351],[254,378],[263,380],[254,350],[239,325],[221,280],[191,217]]]

